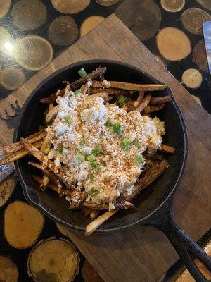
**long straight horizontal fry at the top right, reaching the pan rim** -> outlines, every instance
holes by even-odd
[[[121,82],[121,81],[94,81],[92,83],[92,87],[94,88],[117,88],[124,90],[135,90],[135,91],[158,91],[164,90],[167,88],[165,84],[136,84],[129,82]]]

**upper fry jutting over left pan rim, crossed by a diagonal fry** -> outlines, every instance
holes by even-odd
[[[45,135],[46,135],[45,130],[41,130],[37,133],[30,135],[26,139],[29,140],[30,143],[33,144],[33,143],[43,139]],[[0,147],[0,149],[2,149],[6,154],[12,154],[14,152],[17,152],[20,149],[23,149],[23,145],[19,141],[19,142],[13,143],[11,145],[6,145],[6,146],[3,146],[3,147]]]

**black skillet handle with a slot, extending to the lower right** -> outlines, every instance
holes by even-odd
[[[191,255],[198,258],[210,272],[211,258],[177,225],[172,215],[172,204],[168,202],[163,206],[164,207],[161,207],[154,215],[150,216],[147,224],[160,229],[160,231],[167,236],[182,262],[197,282],[211,281],[203,276],[193,262]]]

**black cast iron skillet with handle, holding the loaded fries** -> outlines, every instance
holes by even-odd
[[[39,124],[44,120],[44,109],[46,108],[44,104],[39,103],[41,98],[56,92],[58,88],[61,89],[63,87],[61,83],[63,80],[70,80],[71,82],[77,80],[79,78],[77,73],[79,68],[84,67],[87,72],[90,72],[100,64],[101,66],[107,66],[106,79],[108,80],[161,83],[152,78],[151,75],[148,75],[148,73],[126,63],[98,60],[72,64],[53,73],[30,94],[20,113],[20,118],[15,128],[14,141],[18,141],[19,137],[27,137],[37,132]],[[170,88],[167,88],[161,92],[153,92],[153,94],[155,96],[162,96],[170,94],[170,92]],[[164,142],[177,148],[175,154],[168,157],[169,168],[155,183],[141,193],[135,201],[136,209],[118,212],[103,226],[100,226],[96,233],[123,231],[125,228],[138,225],[154,226],[167,235],[196,281],[207,281],[194,264],[191,255],[198,257],[210,270],[211,259],[177,226],[172,216],[172,199],[184,172],[188,149],[184,118],[174,99],[156,115],[162,121],[165,121],[167,133],[164,137]],[[85,226],[89,223],[89,219],[84,218],[80,212],[68,210],[68,202],[56,196],[53,192],[41,192],[39,190],[37,183],[32,178],[33,174],[39,172],[36,168],[27,165],[29,158],[31,159],[32,157],[15,162],[18,178],[22,184],[27,201],[41,209],[41,212],[44,212],[51,219],[65,226],[84,231]]]

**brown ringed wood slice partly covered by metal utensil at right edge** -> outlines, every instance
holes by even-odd
[[[188,32],[194,35],[203,34],[203,23],[207,20],[211,20],[210,14],[200,8],[188,8],[188,10],[184,11],[181,15],[181,23]]]

